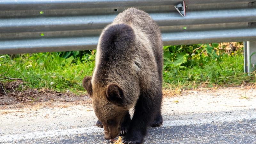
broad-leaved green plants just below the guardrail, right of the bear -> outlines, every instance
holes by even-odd
[[[164,69],[172,68],[190,68],[203,66],[211,60],[221,61],[221,54],[218,53],[217,43],[203,45],[185,45],[185,46],[164,46]],[[220,66],[221,68],[221,66]]]

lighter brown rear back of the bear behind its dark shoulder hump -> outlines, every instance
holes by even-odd
[[[142,35],[146,35],[150,46],[153,50],[157,71],[159,73],[159,80],[162,83],[162,68],[163,68],[163,42],[161,32],[156,22],[145,11],[136,8],[129,8],[120,13],[113,24],[125,23],[134,27],[135,31],[140,30]]]

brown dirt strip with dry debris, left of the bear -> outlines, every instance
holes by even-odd
[[[77,96],[70,92],[63,93],[52,90],[26,89],[22,81],[13,81],[5,84],[0,83],[0,105],[47,101],[74,102],[88,99],[88,96]]]

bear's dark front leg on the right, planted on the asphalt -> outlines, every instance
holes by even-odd
[[[140,95],[135,105],[133,118],[124,137],[125,144],[142,143],[147,132],[147,126],[150,126],[161,108],[162,90],[158,90],[157,96],[154,95],[155,92],[152,92],[152,90],[145,91]]]

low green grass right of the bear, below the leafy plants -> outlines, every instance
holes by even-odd
[[[190,68],[173,68],[164,71],[164,86],[184,89],[196,89],[198,86],[213,87],[214,85],[236,86],[246,83],[255,83],[255,75],[244,74],[244,58],[242,54],[222,56],[220,66],[217,61],[209,61],[204,66],[192,66]]]

